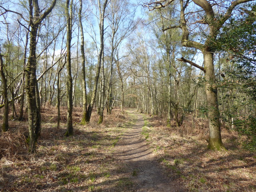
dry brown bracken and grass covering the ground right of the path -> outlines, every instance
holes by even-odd
[[[145,116],[148,145],[166,174],[192,192],[256,192],[256,154],[242,148],[237,132],[222,128],[227,151],[207,150],[208,123],[188,116],[181,127]]]

